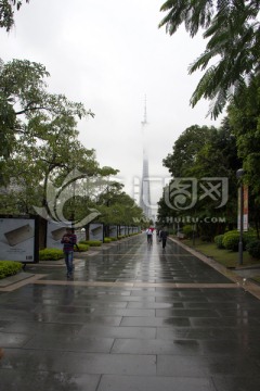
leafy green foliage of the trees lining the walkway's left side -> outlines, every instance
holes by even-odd
[[[4,185],[0,212],[48,209],[52,184],[57,202],[56,202],[55,211],[63,209],[60,215],[66,219],[80,222],[90,209],[100,209],[104,222],[139,218],[142,211],[122,192],[122,185],[110,179],[118,169],[100,167],[95,151],[78,140],[77,121],[93,113],[62,94],[49,93],[46,78],[50,75],[41,64],[2,62],[0,76],[0,180]],[[69,181],[74,172],[79,175]]]

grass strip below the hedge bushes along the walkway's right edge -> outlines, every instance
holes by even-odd
[[[225,267],[236,267],[238,266],[238,252],[218,249],[216,243],[206,243],[200,241],[199,239],[195,240],[195,244],[193,244],[192,240],[183,240],[184,244],[190,248],[199,251],[204,255],[207,255],[214,261],[219,262],[221,265]],[[251,257],[247,251],[243,251],[243,265],[244,266],[252,266],[259,264],[260,261]]]

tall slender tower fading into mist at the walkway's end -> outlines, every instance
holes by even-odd
[[[147,112],[146,112],[146,97],[144,101],[144,118],[141,122],[142,124],[142,136],[143,136],[143,174],[142,174],[142,184],[141,184],[141,197],[140,197],[140,206],[142,207],[146,218],[152,218],[152,207],[151,207],[151,192],[150,192],[150,173],[148,173],[148,156],[145,150],[145,136],[147,137]]]

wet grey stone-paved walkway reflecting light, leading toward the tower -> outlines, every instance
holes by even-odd
[[[260,287],[139,235],[0,285],[1,391],[259,391]]]

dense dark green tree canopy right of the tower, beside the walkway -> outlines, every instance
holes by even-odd
[[[172,180],[158,202],[159,220],[197,219],[200,232],[211,237],[224,228],[222,223],[210,224],[211,218],[235,223],[236,171],[242,162],[229,118],[218,129],[197,125],[187,128],[176,141],[173,153],[164,162]],[[211,192],[214,186],[216,190]]]

